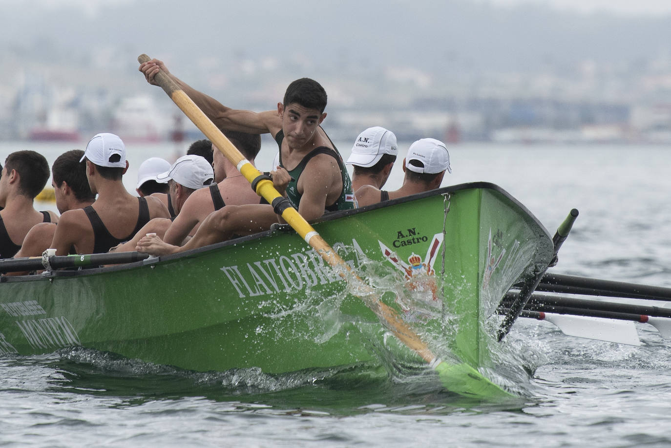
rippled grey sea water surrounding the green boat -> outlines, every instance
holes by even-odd
[[[350,146],[339,145],[345,157]],[[408,146],[399,144],[401,155]],[[0,160],[34,149],[52,162],[77,147],[0,142]],[[180,148],[127,150],[125,185],[134,191],[142,160],[172,160]],[[264,144],[261,169],[275,152]],[[458,144],[450,156],[444,185],[496,183],[552,234],[580,211],[551,272],[671,287],[671,148]],[[402,179],[399,161],[386,189]],[[641,347],[520,319],[501,353],[514,351],[509,362],[530,375],[527,392],[505,404],[356,371],[197,373],[81,348],[5,355],[0,446],[668,447],[671,341],[636,325]]]

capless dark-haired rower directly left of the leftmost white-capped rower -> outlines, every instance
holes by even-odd
[[[60,154],[52,165],[52,187],[58,212],[85,208],[93,204],[95,195],[86,177],[86,164],[80,162],[84,151],[74,149]],[[40,222],[33,226],[23,239],[21,249],[14,258],[38,257],[51,246],[56,224]]]

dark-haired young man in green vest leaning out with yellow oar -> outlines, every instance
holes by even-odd
[[[277,103],[276,110],[252,112],[231,109],[192,89],[170,75],[160,60],[140,64],[140,71],[150,84],[155,84],[154,77],[160,70],[171,77],[220,129],[250,134],[270,132],[280,149],[280,168],[274,172],[273,182],[287,185],[287,197],[303,218],[313,220],[327,211],[354,208],[352,183],[342,157],[320,126],[326,118],[327,95],[319,83],[309,78],[297,79],[287,87],[284,100]],[[207,216],[194,237],[176,251],[225,240],[234,234],[266,230],[274,222],[278,222],[278,217],[272,206],[225,206]],[[158,252],[162,249],[154,251],[151,244],[147,244],[151,238],[158,244],[165,244],[158,237],[148,236],[140,240],[138,251],[160,255]]]

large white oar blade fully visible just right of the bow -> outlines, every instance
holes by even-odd
[[[555,324],[564,334],[597,341],[626,345],[641,345],[633,322],[627,320],[566,316],[545,313],[545,320]]]

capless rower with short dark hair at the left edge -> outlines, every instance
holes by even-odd
[[[49,164],[35,151],[12,152],[0,177],[0,258],[11,258],[23,238],[40,222],[58,222],[54,212],[38,212],[35,197],[49,179]]]

